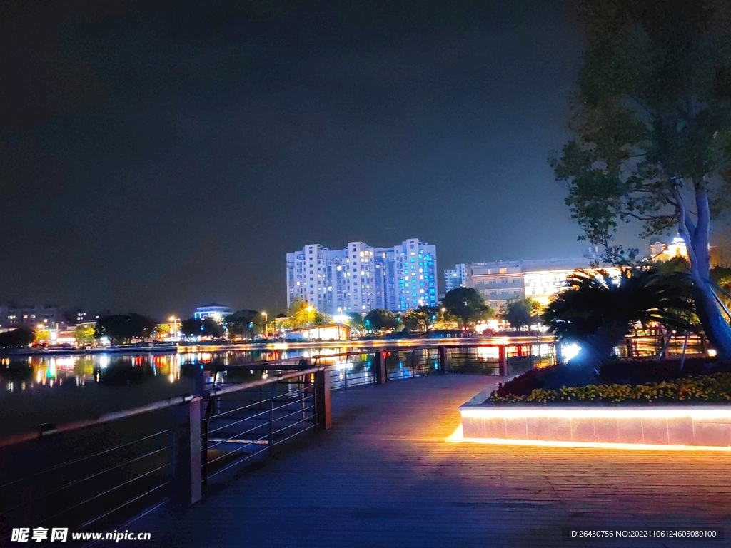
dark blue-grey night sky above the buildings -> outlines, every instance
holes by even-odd
[[[4,1],[0,51],[0,302],[281,311],[306,243],[582,252],[561,1]]]

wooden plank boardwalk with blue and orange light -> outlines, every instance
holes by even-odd
[[[731,546],[727,452],[447,441],[496,384],[447,375],[333,392],[333,429],[195,506],[129,524],[164,547]],[[564,527],[720,526],[724,541],[568,541]]]

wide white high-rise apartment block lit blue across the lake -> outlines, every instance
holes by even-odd
[[[437,302],[436,246],[417,238],[393,248],[310,244],[287,254],[287,306],[296,298],[327,313],[404,311]]]

